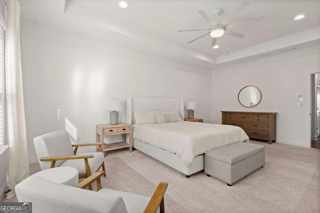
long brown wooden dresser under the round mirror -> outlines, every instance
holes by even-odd
[[[222,124],[241,127],[249,138],[275,142],[276,112],[222,112]]]

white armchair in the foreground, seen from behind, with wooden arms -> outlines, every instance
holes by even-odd
[[[29,177],[15,187],[19,202],[32,202],[32,213],[164,213],[167,183],[160,182],[151,198],[116,190],[101,189],[97,172],[75,187]],[[83,190],[97,182],[98,192]]]

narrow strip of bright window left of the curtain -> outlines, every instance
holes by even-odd
[[[0,28],[0,146],[3,145],[3,113],[4,113],[4,30]]]

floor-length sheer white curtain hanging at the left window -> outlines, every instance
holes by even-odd
[[[15,195],[14,187],[29,176],[28,152],[22,90],[20,56],[20,5],[6,1],[5,31],[5,103],[8,187],[7,199]]]

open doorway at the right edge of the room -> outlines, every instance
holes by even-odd
[[[311,74],[311,148],[320,149],[320,73]]]

